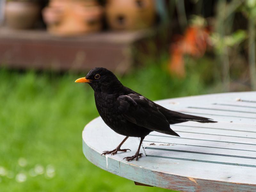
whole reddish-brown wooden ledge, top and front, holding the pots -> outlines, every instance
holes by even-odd
[[[56,37],[46,31],[0,28],[0,65],[56,71],[106,67],[124,73],[135,62],[140,63],[138,52],[155,57],[160,48],[166,47],[166,39],[157,31],[148,29]],[[155,46],[153,49],[152,44]]]

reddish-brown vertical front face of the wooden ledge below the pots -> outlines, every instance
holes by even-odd
[[[0,64],[13,68],[81,71],[102,66],[104,60],[103,67],[116,70],[122,63],[127,69],[127,62],[130,62],[129,46],[123,44],[24,41],[1,36],[0,44]]]

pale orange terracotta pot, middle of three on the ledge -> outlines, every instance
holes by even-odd
[[[101,29],[102,8],[95,0],[51,0],[43,10],[47,30],[55,35],[77,35]]]

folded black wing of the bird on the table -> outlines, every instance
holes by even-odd
[[[118,110],[126,120],[152,131],[179,136],[172,131],[166,117],[153,101],[136,93],[121,95],[117,101]]]

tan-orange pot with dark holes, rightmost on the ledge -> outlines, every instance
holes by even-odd
[[[106,15],[112,29],[148,28],[155,21],[155,0],[108,0]]]

